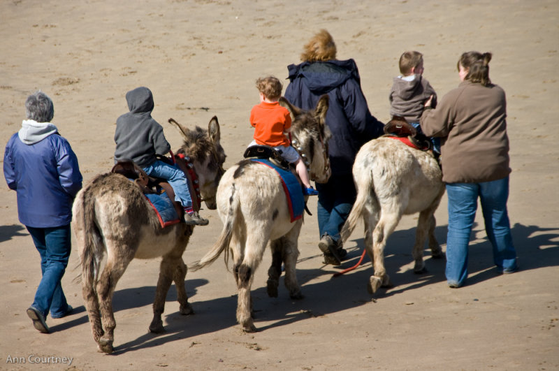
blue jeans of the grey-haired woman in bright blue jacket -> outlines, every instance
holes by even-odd
[[[41,254],[41,272],[43,278],[35,293],[33,307],[47,317],[64,317],[68,312],[66,296],[60,281],[68,265],[71,252],[70,224],[52,228],[34,228],[26,226]]]

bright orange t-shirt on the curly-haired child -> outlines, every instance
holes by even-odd
[[[259,145],[289,146],[284,131],[291,127],[291,116],[278,102],[261,102],[254,106],[250,111],[250,124],[254,126],[254,140]]]

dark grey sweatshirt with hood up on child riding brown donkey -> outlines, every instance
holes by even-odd
[[[138,166],[146,167],[154,163],[156,154],[167,154],[167,142],[163,126],[152,118],[153,96],[147,87],[137,87],[126,93],[130,112],[117,119],[115,131],[115,162],[131,159]]]

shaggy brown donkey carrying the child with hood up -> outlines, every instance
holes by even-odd
[[[216,208],[215,194],[222,177],[225,154],[219,144],[219,123],[213,117],[208,130],[189,130],[170,119],[184,138],[178,153],[191,158],[201,195],[209,209]],[[73,204],[73,230],[78,240],[82,267],[82,293],[99,351],[111,353],[115,330],[112,294],[132,259],[163,256],[153,303],[150,331],[161,333],[165,298],[175,282],[181,314],[191,314],[184,289],[187,266],[182,261],[194,226],[184,223],[161,228],[140,187],[123,175],[107,173],[94,177],[78,193]],[[104,254],[107,261],[100,271]]]

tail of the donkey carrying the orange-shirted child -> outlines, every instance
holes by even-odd
[[[194,261],[189,265],[190,270],[198,270],[204,268],[206,265],[210,265],[222,252],[225,252],[225,265],[228,267],[229,260],[229,244],[231,243],[231,238],[233,237],[233,224],[235,222],[235,214],[237,214],[239,209],[239,198],[235,195],[235,184],[231,186],[231,197],[229,197],[229,208],[226,213],[224,220],[224,226],[222,233],[219,235],[217,242],[213,245],[212,249],[208,254],[205,254],[203,258],[199,261]]]

